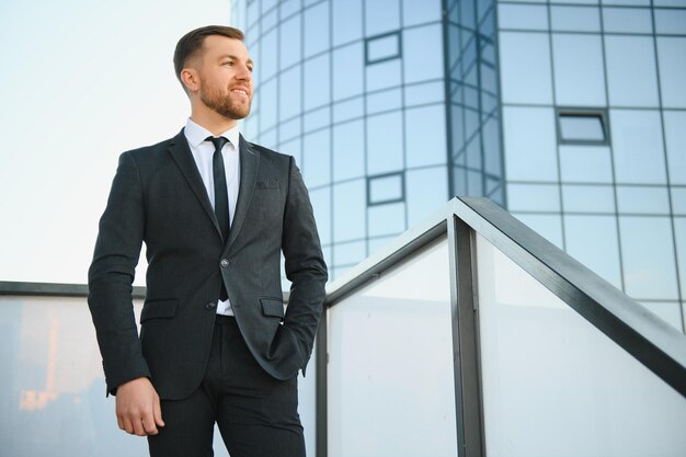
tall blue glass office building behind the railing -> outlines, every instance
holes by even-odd
[[[686,1],[233,0],[333,277],[488,196],[684,329]]]

